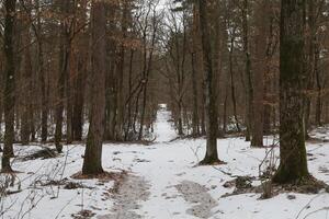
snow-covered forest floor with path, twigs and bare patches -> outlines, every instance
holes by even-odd
[[[15,146],[13,169],[18,173],[0,175],[0,218],[329,218],[326,192],[287,192],[270,199],[260,199],[257,189],[229,195],[238,187],[232,183],[238,176],[248,176],[240,177],[247,178],[242,188],[261,185],[260,163],[270,151],[272,158],[265,159],[261,170],[270,161],[277,164],[279,148],[272,137],[264,142],[274,147],[262,149],[250,148],[239,137],[218,139],[220,160],[227,164],[198,166],[205,140],[172,141],[177,135],[169,119],[169,112],[159,111],[158,137],[149,146],[104,145],[103,168],[112,175],[99,180],[71,177],[81,170],[81,145],[66,146],[59,157],[45,146]],[[329,127],[317,128],[311,137],[317,140],[307,145],[309,171],[328,183]]]

